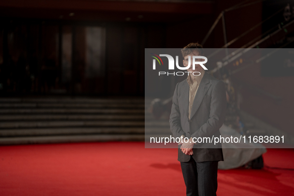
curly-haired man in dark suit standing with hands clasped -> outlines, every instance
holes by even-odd
[[[220,136],[219,128],[226,111],[225,85],[206,73],[200,65],[196,64],[193,70],[193,56],[203,56],[200,44],[189,44],[182,49],[182,54],[183,64],[190,66],[187,71],[191,73],[176,85],[170,127],[175,137],[186,139],[183,140],[186,142],[179,143],[178,160],[181,162],[187,196],[216,196],[217,165],[218,161],[223,161],[221,143],[207,145],[197,143],[193,138]],[[200,72],[200,75],[195,76],[199,73],[193,75],[193,72]]]

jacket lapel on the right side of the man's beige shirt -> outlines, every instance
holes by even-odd
[[[211,86],[211,84],[209,83],[209,74],[205,72],[204,76],[200,82],[200,85],[198,87],[194,101],[193,101],[190,119],[192,119],[193,115],[196,113],[197,109],[199,108],[199,106],[202,102],[202,99],[204,98],[204,95],[206,94],[206,92],[208,91],[210,86]],[[188,85],[188,87],[189,87],[189,85]],[[189,91],[189,89],[188,89],[188,91]],[[189,102],[189,98],[188,98],[188,102]],[[189,115],[189,110],[188,110],[188,115]]]

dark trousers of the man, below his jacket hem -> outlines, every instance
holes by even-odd
[[[181,162],[187,196],[216,196],[218,161]]]

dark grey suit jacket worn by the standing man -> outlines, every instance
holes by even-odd
[[[173,96],[170,115],[170,127],[174,137],[185,134],[190,137],[219,137],[226,112],[225,85],[208,73],[199,84],[189,120],[189,84],[184,80],[177,84]],[[196,143],[193,148],[193,158],[196,162],[223,161],[221,143],[204,146]],[[178,149],[178,160],[188,162],[190,155]]]

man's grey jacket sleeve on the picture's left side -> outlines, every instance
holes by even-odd
[[[185,134],[181,126],[181,113],[178,102],[178,86],[179,83],[176,85],[176,89],[174,92],[172,110],[170,115],[170,128],[174,137],[181,137],[183,134]]]

